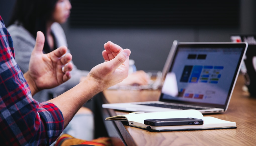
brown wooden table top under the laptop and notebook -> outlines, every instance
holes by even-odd
[[[193,130],[175,132],[148,132],[122,122],[104,121],[114,145],[256,145],[256,97],[242,91],[243,78],[239,75],[229,108],[222,114],[210,116],[236,122],[236,129]],[[105,90],[103,103],[153,101],[160,95],[158,90]],[[108,116],[127,114],[124,111],[102,108],[103,119]]]

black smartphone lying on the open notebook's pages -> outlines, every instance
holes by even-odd
[[[196,118],[147,119],[144,124],[151,126],[202,125],[204,120]]]

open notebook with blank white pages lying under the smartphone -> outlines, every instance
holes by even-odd
[[[202,119],[202,125],[178,125],[178,126],[151,126],[146,125],[146,119],[168,119],[168,118],[187,118],[191,117]],[[164,112],[150,112],[150,113],[130,113],[123,115],[116,115],[108,117],[105,120],[122,121],[127,125],[147,129],[149,131],[176,131],[176,130],[206,130],[206,129],[229,129],[236,128],[236,122],[230,122],[214,118],[212,116],[203,116],[197,110],[177,110],[177,111],[164,111]]]

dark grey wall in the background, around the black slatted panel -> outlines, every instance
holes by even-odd
[[[15,0],[0,0],[0,15],[7,24]],[[195,1],[196,2],[196,1]],[[230,6],[232,6],[232,1]],[[169,49],[174,40],[178,41],[230,41],[231,34],[256,33],[256,1],[238,0],[238,25],[154,25],[154,26],[112,26],[97,27],[73,25],[71,20],[62,24],[68,40],[68,48],[74,64],[79,69],[90,70],[102,63],[101,52],[107,41],[117,43],[132,51],[130,59],[135,60],[139,70],[162,70]],[[71,4],[72,4],[71,0]],[[72,4],[73,5],[73,4]],[[216,6],[216,9],[220,6]],[[76,13],[73,6],[72,14]],[[84,8],[86,9],[86,8]],[[177,8],[178,9],[178,8]],[[112,8],[109,9],[111,11]],[[194,11],[193,11],[194,12]],[[230,16],[232,17],[232,16]],[[73,21],[72,21],[73,22]],[[103,23],[104,24],[104,23]]]

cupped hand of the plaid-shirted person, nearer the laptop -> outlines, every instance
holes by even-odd
[[[99,85],[99,92],[113,86],[128,76],[129,49],[122,49],[111,41],[104,44],[102,56],[105,60],[91,69],[87,77],[93,78]]]

